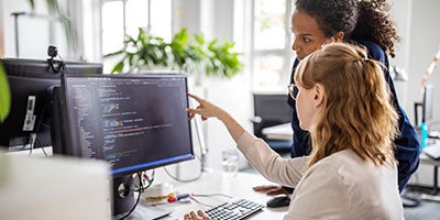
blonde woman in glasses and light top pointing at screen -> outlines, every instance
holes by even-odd
[[[215,117],[268,180],[295,187],[285,219],[404,219],[393,140],[398,114],[381,65],[361,47],[330,43],[298,65],[289,94],[312,152],[283,158],[227,111],[197,96],[189,118]],[[185,219],[209,219],[201,211]]]

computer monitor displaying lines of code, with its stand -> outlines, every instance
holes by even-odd
[[[64,75],[61,91],[55,153],[110,163],[114,216],[134,205],[132,174],[195,157],[185,75]]]

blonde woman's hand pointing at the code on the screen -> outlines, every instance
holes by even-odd
[[[196,114],[200,114],[201,119],[205,121],[211,117],[216,117],[219,119],[222,114],[226,113],[222,109],[210,103],[206,99],[202,99],[193,94],[188,94],[188,96],[199,102],[199,106],[196,109],[186,109],[186,112],[189,113],[189,120],[191,120]]]

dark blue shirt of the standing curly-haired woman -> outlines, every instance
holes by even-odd
[[[387,68],[389,67],[388,57],[386,56],[384,50],[382,50],[377,44],[369,41],[359,41],[359,44],[364,45],[369,50],[370,58],[383,63]],[[290,78],[292,82],[294,80],[295,68],[298,63],[298,59],[296,59],[294,63]],[[418,167],[420,144],[417,132],[409,122],[408,116],[398,103],[394,82],[389,76],[388,69],[384,69],[384,73],[385,79],[393,96],[394,107],[399,116],[399,135],[394,140],[394,144],[396,145],[395,155],[396,160],[398,161],[398,185],[399,190],[402,191],[408,183],[411,174],[415,173]],[[295,108],[296,101],[289,96],[287,102],[293,108],[292,129],[294,130],[294,143],[292,146],[292,157],[309,155],[311,152],[310,135],[307,131],[304,131],[299,128],[299,120]]]

